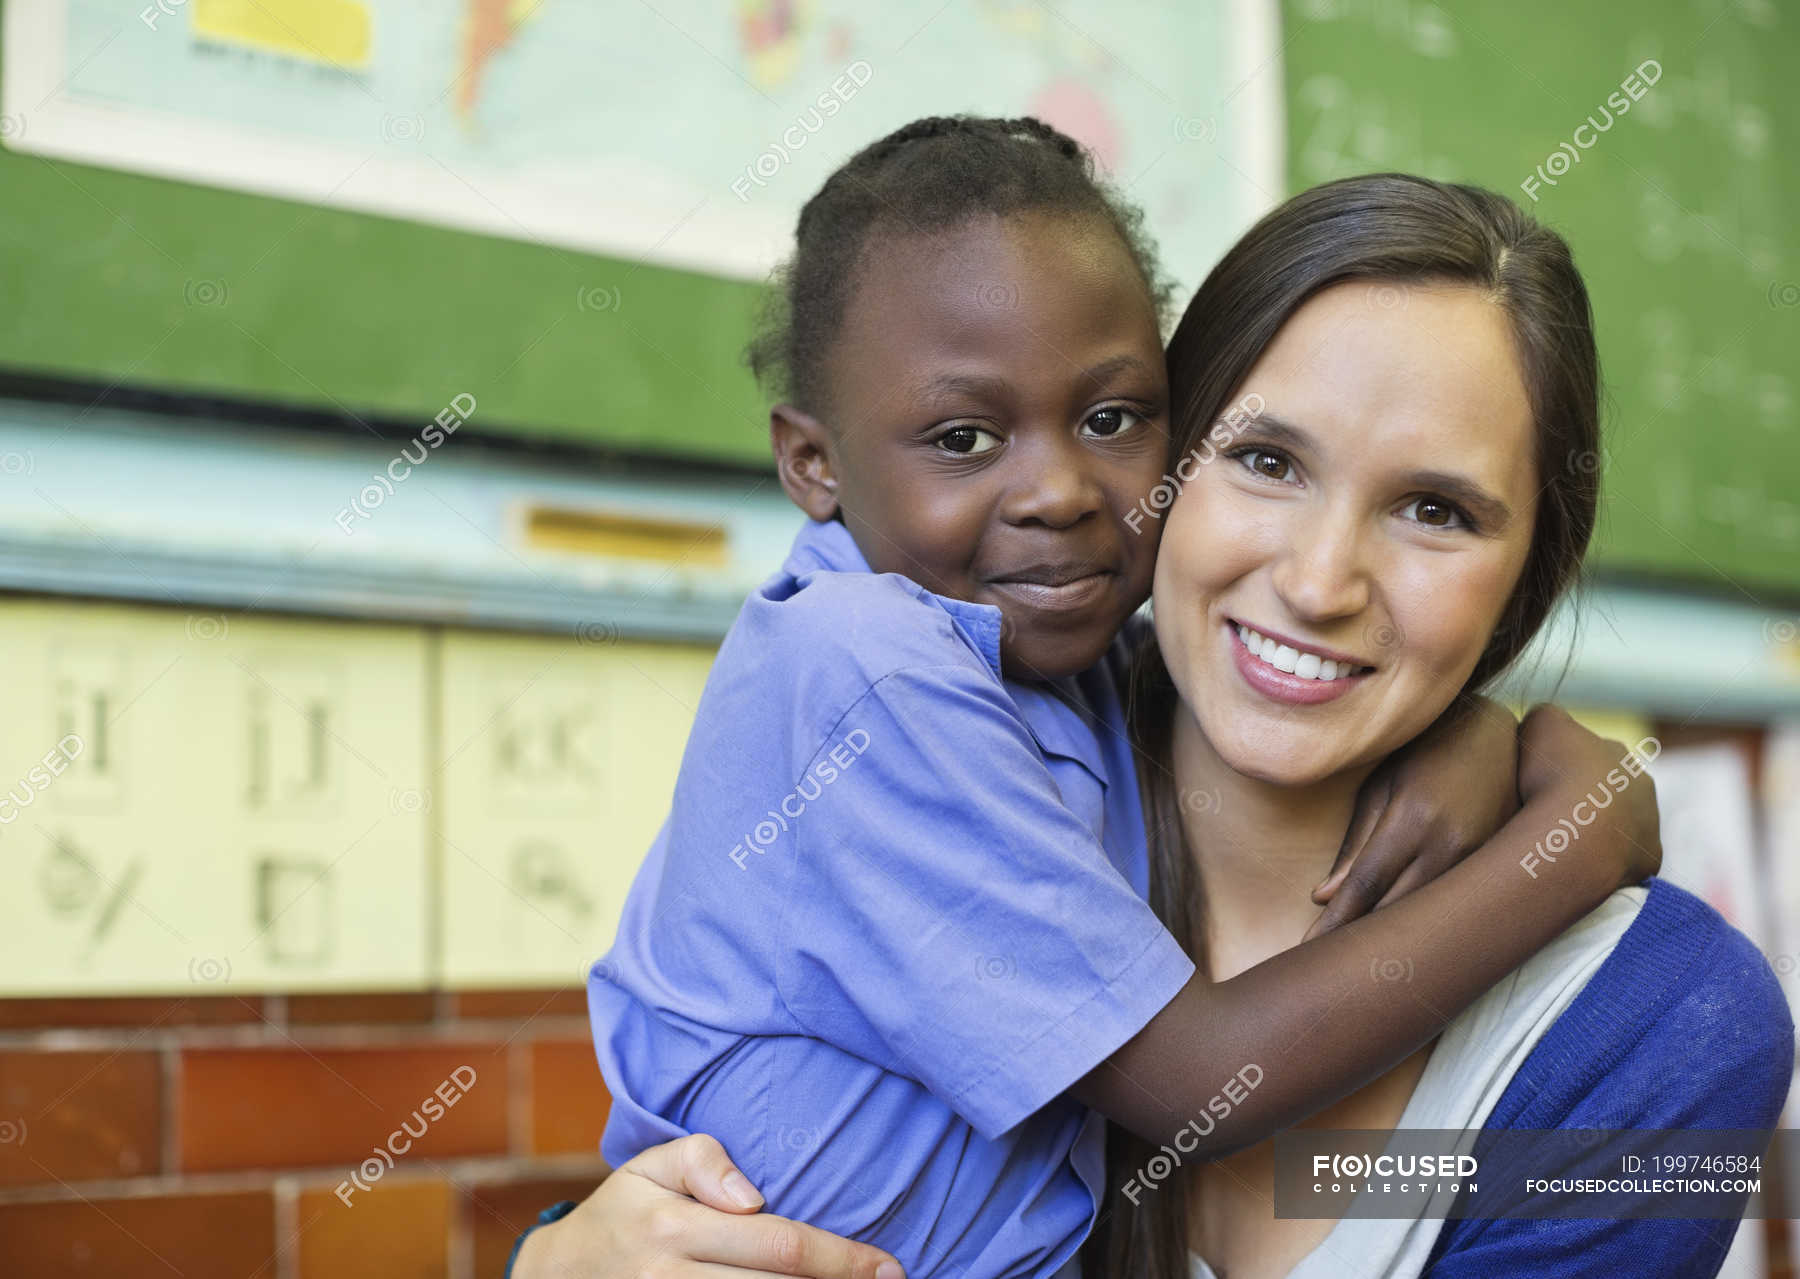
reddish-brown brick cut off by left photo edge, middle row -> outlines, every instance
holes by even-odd
[[[0,1052],[0,1185],[160,1171],[155,1052]]]

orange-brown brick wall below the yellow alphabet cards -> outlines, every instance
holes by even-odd
[[[0,1000],[0,1270],[499,1275],[607,1105],[580,989]]]

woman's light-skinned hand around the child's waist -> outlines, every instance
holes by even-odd
[[[569,1216],[526,1236],[513,1279],[806,1275],[904,1279],[878,1248],[760,1214],[763,1196],[704,1133],[652,1146]]]

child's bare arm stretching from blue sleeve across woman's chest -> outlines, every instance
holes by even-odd
[[[1193,977],[1073,1096],[1147,1140],[1219,1158],[1393,1069],[1615,889],[1656,872],[1654,786],[1624,747],[1539,707],[1519,752],[1526,804],[1481,849],[1231,980]],[[1586,804],[1577,826],[1598,788],[1615,799]]]

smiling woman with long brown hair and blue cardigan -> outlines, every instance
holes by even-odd
[[[1577,576],[1598,374],[1561,237],[1490,192],[1397,174],[1269,214],[1211,272],[1168,358],[1175,455],[1202,464],[1168,511],[1134,738],[1157,831],[1152,905],[1224,979],[1303,939],[1305,885],[1330,869],[1363,779],[1498,676]],[[1249,394],[1264,412],[1202,441]],[[1312,678],[1323,662],[1359,673]],[[1521,772],[1544,766],[1528,747]],[[1616,757],[1593,808],[1638,772]],[[1555,890],[1548,858],[1521,874]],[[1404,997],[1406,957],[1370,980]],[[1768,964],[1652,881],[1310,1124],[1768,1128],[1791,1063]],[[1694,1275],[1730,1243],[1685,1221],[1278,1221],[1265,1146],[1179,1193],[1143,1176],[1150,1153],[1114,1135],[1089,1277],[1310,1277],[1372,1256],[1364,1274],[1555,1274],[1579,1256]]]

